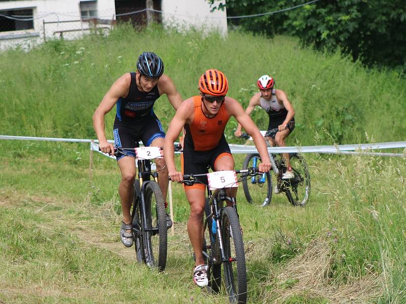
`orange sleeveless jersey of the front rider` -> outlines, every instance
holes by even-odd
[[[207,117],[201,108],[201,96],[194,96],[194,119],[185,125],[185,149],[207,151],[215,148],[224,134],[225,126],[230,119],[223,104],[216,116]]]

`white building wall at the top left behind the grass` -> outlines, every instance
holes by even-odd
[[[82,0],[86,1],[86,0]],[[221,2],[225,2],[222,0]],[[0,50],[20,45],[29,48],[46,39],[57,38],[60,31],[64,39],[74,39],[88,32],[89,22],[80,22],[79,0],[18,0],[0,2],[2,11],[13,9],[33,9],[33,29],[0,32]],[[162,22],[167,26],[182,26],[186,29],[193,26],[204,30],[219,30],[227,33],[226,11],[211,12],[206,0],[161,0]],[[115,0],[97,0],[97,15],[100,19],[115,18]],[[61,22],[71,21],[71,22]],[[45,25],[44,25],[45,22]],[[55,22],[55,23],[46,23]],[[98,25],[101,27],[103,25]],[[106,26],[104,26],[106,27]],[[84,29],[82,31],[81,29]],[[69,31],[76,30],[77,31]]]

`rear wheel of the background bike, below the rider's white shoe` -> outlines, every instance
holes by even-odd
[[[310,173],[306,160],[302,154],[291,154],[290,165],[294,178],[286,180],[286,196],[294,206],[304,206],[310,197]]]

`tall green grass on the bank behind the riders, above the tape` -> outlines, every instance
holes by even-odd
[[[95,137],[91,117],[113,82],[133,71],[139,54],[156,52],[165,73],[182,97],[198,93],[199,75],[208,68],[225,72],[229,96],[246,106],[257,91],[256,80],[272,74],[296,110],[296,131],[302,144],[313,143],[325,128],[337,143],[360,142],[364,132],[377,141],[401,140],[406,132],[406,81],[391,71],[363,68],[335,54],[301,49],[287,36],[269,40],[230,31],[227,37],[199,31],[180,33],[159,27],[134,31],[120,27],[107,37],[89,35],[80,41],[50,41],[26,53],[1,54],[0,133],[32,136]],[[155,111],[167,127],[174,110],[166,97]],[[107,117],[111,135],[115,110]],[[254,120],[267,127],[266,113]],[[226,129],[230,140],[236,122]],[[293,141],[295,142],[295,141]]]

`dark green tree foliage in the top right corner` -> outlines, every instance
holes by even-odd
[[[214,6],[214,1],[210,1]],[[228,16],[275,12],[303,4],[302,0],[229,0]],[[273,15],[231,19],[255,33],[296,35],[319,50],[337,47],[368,65],[406,70],[406,7],[403,0],[318,1]]]

